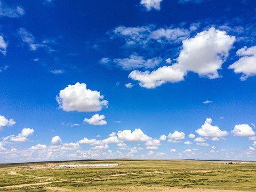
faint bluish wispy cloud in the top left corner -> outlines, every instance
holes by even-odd
[[[10,7],[0,1],[0,16],[16,18],[23,14],[25,14],[25,11],[20,6]]]

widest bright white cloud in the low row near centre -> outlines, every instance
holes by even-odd
[[[133,132],[131,130],[124,130],[117,132],[118,139],[123,141],[130,141],[130,142],[144,142],[144,141],[151,141],[151,137],[144,134],[140,129],[135,129]]]

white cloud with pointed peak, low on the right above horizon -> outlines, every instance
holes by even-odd
[[[227,131],[221,131],[218,126],[212,126],[212,119],[207,118],[205,123],[202,125],[201,129],[196,130],[196,133],[202,137],[223,137],[228,135]]]

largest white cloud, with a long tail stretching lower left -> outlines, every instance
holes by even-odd
[[[220,77],[218,70],[226,61],[234,41],[235,37],[227,35],[225,31],[210,28],[182,41],[182,50],[177,63],[163,66],[151,73],[134,70],[129,77],[139,81],[140,86],[148,89],[166,82],[182,81],[188,71],[193,71],[200,77],[218,78]]]

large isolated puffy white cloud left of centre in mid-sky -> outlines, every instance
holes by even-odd
[[[85,83],[68,85],[61,90],[56,100],[60,108],[65,111],[99,111],[108,106],[107,100],[102,100],[103,95],[98,91],[86,89]]]

